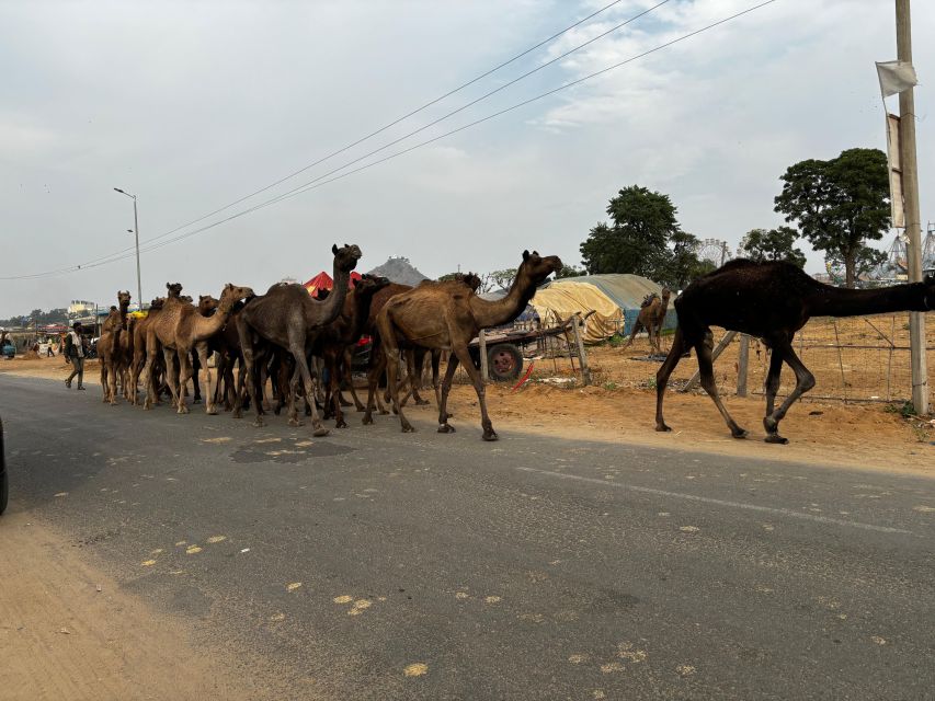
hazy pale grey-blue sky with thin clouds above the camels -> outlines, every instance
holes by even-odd
[[[329,156],[611,0],[50,2],[0,0],[0,318],[70,299],[136,298],[133,257],[167,234]],[[579,244],[631,184],[666,193],[684,229],[736,245],[773,227],[779,176],[806,158],[885,148],[875,60],[896,58],[892,0],[777,0],[603,76],[360,173],[153,251],[244,211],[574,48],[659,0],[623,0],[383,134],[246,202],[142,243],[146,300],[167,280],[218,295],[331,267],[357,243],[369,269],[580,262]],[[645,18],[324,182],[757,4],[670,0]],[[922,219],[933,212],[935,3],[913,7]],[[896,110],[894,99],[892,108]],[[891,234],[883,242],[889,245]],[[802,244],[803,248],[808,248]],[[808,269],[821,267],[810,255]]]

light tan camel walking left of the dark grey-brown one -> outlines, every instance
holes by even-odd
[[[217,311],[210,317],[203,317],[198,308],[183,302],[181,299],[167,300],[160,312],[153,318],[147,327],[146,336],[146,367],[152,367],[158,349],[162,348],[166,361],[166,376],[169,381],[169,390],[172,393],[172,405],[178,413],[187,414],[189,407],[182,397],[182,388],[186,387],[192,377],[191,356],[193,349],[197,350],[205,368],[207,391],[205,397],[205,411],[216,414],[214,404],[214,392],[210,388],[212,374],[207,365],[207,340],[218,333],[230,313],[231,308],[244,297],[251,297],[253,290],[249,287],[237,287],[228,283],[220,294],[220,302]],[[173,354],[179,359],[179,384],[176,387]],[[144,409],[151,409],[156,400],[153,382],[148,382],[148,392]]]

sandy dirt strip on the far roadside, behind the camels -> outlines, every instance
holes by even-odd
[[[563,380],[577,377],[570,370],[568,358],[559,358],[555,364],[551,359],[537,361],[531,380],[515,391],[509,384],[490,384],[487,397],[494,427],[501,433],[526,430],[738,457],[935,474],[933,418],[907,420],[894,412],[892,405],[882,403],[799,402],[780,425],[780,433],[789,438],[789,445],[775,446],[762,440],[765,435],[762,395],[741,399],[728,392],[722,394],[728,411],[750,432],[748,439],[736,440],[706,394],[670,389],[665,420],[673,430],[657,433],[655,391],[651,389],[651,381],[659,364],[636,360],[647,352],[639,346],[638,341],[626,352],[609,346],[591,348],[589,358],[594,370],[594,386],[547,382],[555,377]],[[725,366],[729,374],[729,361]],[[0,361],[0,371],[62,380],[69,368],[60,358]],[[694,359],[684,359],[673,374],[673,384],[687,379],[696,369]],[[99,375],[96,360],[88,361],[84,379],[88,391],[93,394],[100,392]],[[466,381],[466,377],[460,379]],[[754,387],[751,381],[751,390]],[[62,398],[66,391],[62,387]],[[432,398],[431,389],[424,395]],[[129,407],[123,409],[129,411]],[[406,411],[412,417],[427,420],[437,415],[434,402],[430,406],[409,405]],[[453,387],[451,411],[455,415],[454,426],[463,429],[479,426],[472,387],[466,383]],[[349,415],[349,423],[350,430],[357,428],[353,413]]]

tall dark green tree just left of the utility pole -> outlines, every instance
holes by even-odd
[[[858,261],[871,256],[866,241],[889,228],[887,157],[879,149],[848,149],[830,161],[809,159],[782,177],[776,211],[798,223],[818,251],[840,257],[844,283],[854,287]]]

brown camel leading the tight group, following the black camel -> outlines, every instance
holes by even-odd
[[[550,274],[561,269],[561,260],[550,255],[540,257],[535,251],[523,251],[523,263],[516,272],[506,297],[487,301],[472,292],[463,281],[421,285],[408,292],[397,295],[384,306],[377,317],[377,332],[387,361],[388,383],[392,403],[399,414],[403,433],[414,430],[403,416],[399,404],[399,387],[396,378],[401,361],[400,347],[422,347],[451,350],[445,380],[438,405],[438,433],[452,433],[446,411],[452,379],[458,363],[465,366],[480,404],[481,427],[484,440],[497,440],[497,433],[487,413],[483,380],[468,352],[468,344],[481,329],[499,326],[516,319],[536,292],[536,287]],[[364,423],[370,423],[373,394],[377,377],[370,374],[367,414]]]

